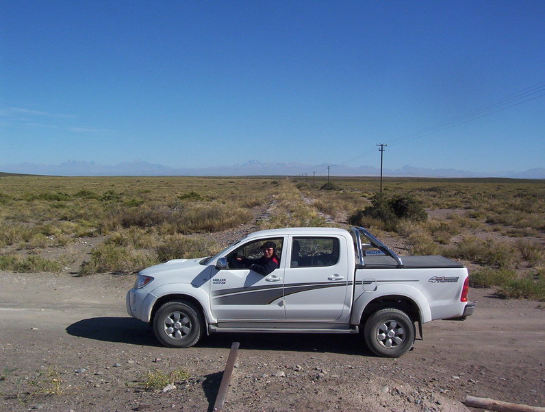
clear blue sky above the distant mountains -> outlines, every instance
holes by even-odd
[[[12,1],[0,165],[545,167],[544,1]],[[503,99],[503,100],[502,100]]]

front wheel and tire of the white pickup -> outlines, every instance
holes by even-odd
[[[201,339],[204,328],[201,311],[190,302],[166,302],[153,318],[155,336],[170,348],[190,348]]]

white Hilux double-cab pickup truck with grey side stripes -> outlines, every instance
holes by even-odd
[[[275,243],[278,267],[262,275],[258,258]],[[246,259],[247,260],[247,259]],[[216,256],[175,259],[140,271],[127,312],[149,322],[165,346],[188,348],[203,333],[357,333],[370,350],[401,356],[415,324],[465,319],[468,271],[442,256],[397,256],[364,228],[262,230]]]

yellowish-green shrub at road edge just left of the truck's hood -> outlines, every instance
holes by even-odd
[[[93,247],[91,260],[81,264],[79,274],[133,273],[155,263],[157,263],[157,260],[149,252],[138,251],[134,247],[103,243]]]

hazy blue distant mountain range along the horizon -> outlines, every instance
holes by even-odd
[[[351,167],[332,165],[331,175],[336,176],[377,176],[380,169],[371,166]],[[326,175],[327,165],[303,165],[301,163],[274,163],[249,160],[242,165],[180,167],[173,168],[135,160],[117,165],[101,165],[96,162],[68,160],[60,165],[36,165],[20,163],[18,165],[0,165],[0,171],[6,173],[25,173],[35,175],[62,176],[250,176],[250,175]],[[424,169],[423,167],[403,166],[399,169],[384,169],[385,176],[426,177],[426,178],[516,178],[545,179],[545,168],[530,169],[522,172],[504,171],[500,173],[477,173],[456,169]]]

